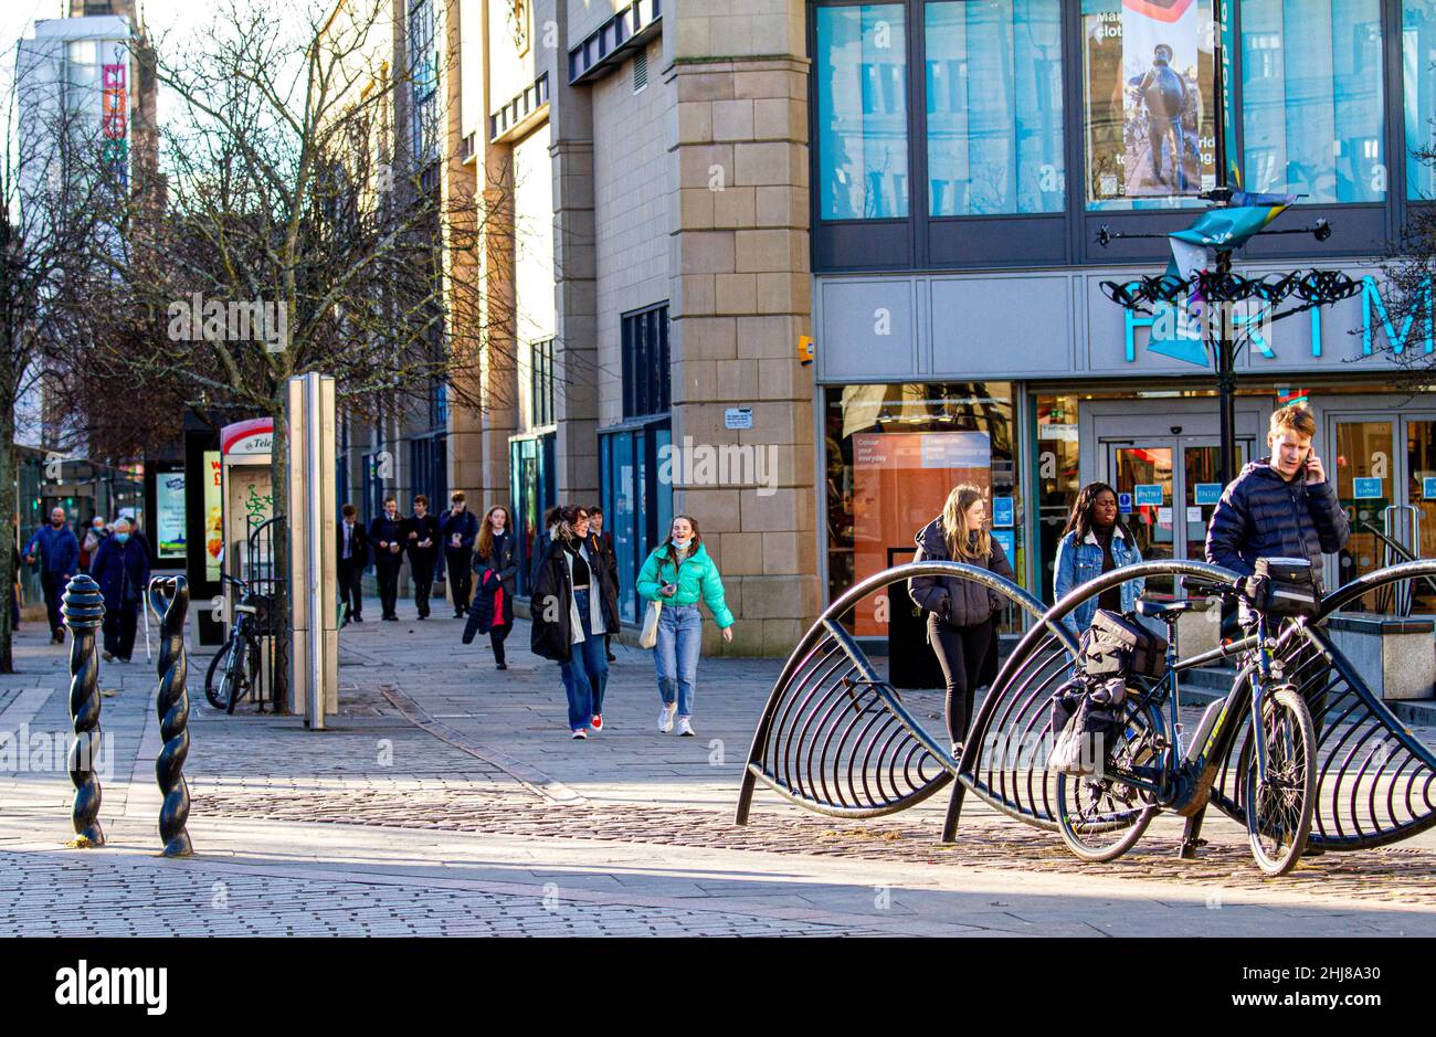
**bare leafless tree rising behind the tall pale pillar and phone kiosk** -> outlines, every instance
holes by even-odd
[[[276,514],[292,376],[332,375],[358,417],[441,386],[482,409],[494,402],[484,365],[513,326],[480,261],[481,243],[510,233],[491,218],[508,191],[439,190],[441,70],[396,53],[392,17],[406,6],[293,7],[231,1],[198,46],[157,46],[158,80],[182,108],[161,134],[164,218],[132,223],[125,263],[95,284],[85,317],[106,378],[274,418]],[[411,136],[425,86],[434,101]]]

